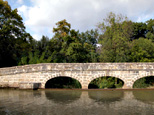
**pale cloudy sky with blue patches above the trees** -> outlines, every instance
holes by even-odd
[[[85,32],[95,29],[109,12],[122,14],[134,22],[154,19],[154,0],[5,0],[17,8],[26,31],[36,40],[52,38],[53,27],[66,19],[71,28]]]

